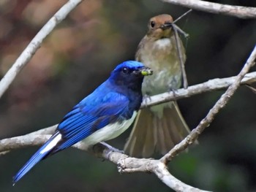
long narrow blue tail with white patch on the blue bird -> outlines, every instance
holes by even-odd
[[[29,172],[30,169],[32,169],[33,166],[35,166],[39,161],[41,161],[43,158],[45,158],[51,150],[57,145],[57,143],[61,140],[61,134],[59,132],[56,132],[56,134],[53,134],[50,139],[45,142],[42,147],[37,150],[37,153],[34,153],[34,155],[29,159],[28,162],[20,169],[20,171],[13,177],[13,185],[18,182],[27,172]]]

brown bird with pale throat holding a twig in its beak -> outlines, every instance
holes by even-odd
[[[181,87],[181,65],[170,15],[157,15],[148,22],[148,32],[140,41],[137,61],[154,70],[144,80],[143,93],[153,96]],[[186,60],[181,39],[183,61]],[[147,107],[138,112],[124,151],[135,157],[150,157],[155,152],[165,154],[189,134],[189,128],[176,101]]]

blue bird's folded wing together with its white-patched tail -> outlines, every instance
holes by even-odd
[[[80,142],[109,123],[132,117],[126,96],[114,92],[102,97],[99,94],[97,96],[93,93],[87,96],[64,117],[56,133],[19,170],[13,178],[13,183],[18,182],[35,164],[49,155]]]

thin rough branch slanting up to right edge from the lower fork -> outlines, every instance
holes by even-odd
[[[208,112],[208,114],[206,115],[206,118],[203,118],[203,120],[200,121],[198,126],[194,128],[185,139],[183,139],[180,143],[178,143],[178,145],[173,147],[173,149],[171,149],[166,155],[164,155],[161,158],[161,161],[163,163],[167,164],[167,162],[170,161],[174,156],[176,156],[181,151],[185,150],[189,145],[192,145],[192,143],[195,142],[195,140],[203,132],[203,130],[210,125],[210,123],[214,120],[214,117],[217,115],[219,110],[225,107],[227,102],[236,92],[245,74],[249,72],[249,69],[253,65],[255,65],[255,58],[256,58],[256,45],[254,50],[252,50],[251,55],[249,55],[249,58],[247,59],[246,64],[244,64],[243,69],[241,69],[241,72],[237,75],[232,85],[230,85],[230,87],[227,88],[227,91],[220,97],[217,103],[214,104],[214,107],[212,107],[211,110]]]

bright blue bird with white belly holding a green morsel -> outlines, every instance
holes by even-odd
[[[55,133],[13,177],[17,183],[42,159],[83,140],[86,146],[118,137],[135,120],[143,77],[152,70],[138,61],[116,66],[108,80],[64,116]]]

